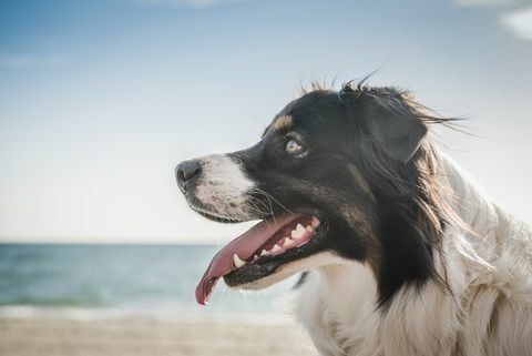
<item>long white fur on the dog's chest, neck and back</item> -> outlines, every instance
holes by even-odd
[[[452,295],[432,282],[421,291],[403,287],[383,312],[376,308],[369,266],[331,255],[287,266],[289,273],[266,281],[313,267],[294,307],[321,355],[532,355],[532,232],[456,163],[442,160],[456,193],[448,200],[475,232],[453,225],[446,231],[444,258],[436,263]]]

